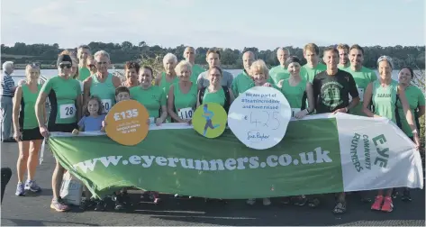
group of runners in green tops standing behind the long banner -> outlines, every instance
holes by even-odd
[[[419,118],[424,114],[424,95],[412,85],[412,68],[399,70],[399,81],[392,79],[393,61],[388,56],[377,59],[378,76],[375,71],[363,67],[364,50],[357,44],[349,47],[340,44],[337,48],[320,50],[314,43],[304,46],[304,59],[291,56],[286,48],[279,48],[276,57],[280,65],[267,68],[265,62],[256,59],[253,52],[242,55],[244,69],[237,76],[221,68],[221,52],[208,50],[205,70],[195,64],[195,49],[187,47],[185,60],[168,53],[163,59],[164,71],[154,75],[150,66],[126,62],[125,78],[108,72],[110,55],[99,50],[92,57],[88,46],[77,48],[77,57],[68,51],[59,54],[58,76],[51,77],[42,86],[38,83],[41,69],[37,64],[25,68],[26,82],[14,92],[14,140],[19,142],[17,161],[18,185],[16,195],[25,191],[40,192],[35,182],[38,152],[43,138],[50,132],[102,131],[105,114],[113,104],[133,99],[143,104],[150,123],[191,123],[196,109],[204,103],[221,104],[229,109],[232,101],[253,86],[271,86],[280,90],[288,100],[293,116],[303,118],[308,114],[346,113],[367,117],[385,117],[401,127],[403,132],[420,146]],[[50,101],[50,114],[45,103]],[[56,162],[52,175],[52,209],[63,212],[69,206],[59,196],[65,169]],[[24,174],[27,173],[26,180]],[[95,210],[104,210],[101,198],[90,198],[86,190],[82,208],[95,205]],[[362,200],[373,202],[371,209],[392,212],[393,196],[397,190],[379,190],[374,202],[364,193]],[[157,192],[148,192],[154,203],[159,203]],[[176,195],[180,196],[180,195]],[[122,209],[128,198],[125,189],[113,195],[115,209]],[[403,189],[403,200],[410,201],[410,191]],[[248,198],[254,204],[255,198]],[[315,207],[320,204],[317,195],[298,195],[282,198],[282,203]],[[271,204],[268,198],[263,204]],[[336,195],[334,213],[346,212],[345,193]]]

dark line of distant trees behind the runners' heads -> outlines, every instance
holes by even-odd
[[[349,43],[349,46],[351,44]],[[156,58],[158,56],[164,56],[168,52],[171,52],[177,56],[177,59],[184,59],[183,52],[186,48],[184,45],[177,46],[176,48],[163,48],[159,45],[149,46],[145,41],[140,41],[138,45],[133,45],[130,41],[123,41],[120,43],[104,43],[92,41],[88,43],[92,52],[95,53],[97,50],[105,50],[111,55],[113,64],[123,64],[128,60],[137,60],[141,56],[144,58]],[[291,55],[295,55],[303,60],[303,48],[287,46],[290,50]],[[320,47],[320,56],[322,56],[322,49]],[[195,63],[200,65],[206,65],[205,53],[210,47],[198,47],[195,49],[196,57]],[[251,50],[255,53],[258,59],[263,59],[268,66],[276,66],[279,64],[276,59],[276,50],[258,50],[256,47],[246,47],[243,50],[232,50],[229,48],[217,48],[222,50],[221,62],[223,66],[227,68],[242,68],[242,53],[246,50]],[[388,55],[394,59],[395,68],[401,68],[403,66],[411,66],[412,68],[425,68],[425,47],[424,46],[401,46],[397,45],[394,47],[382,47],[382,46],[370,46],[363,47],[365,51],[364,65],[367,68],[376,68],[376,60],[381,55]],[[23,42],[16,42],[14,46],[5,46],[2,44],[1,61],[13,60],[16,64],[24,64],[28,62],[38,61],[43,65],[55,65],[56,59],[59,52],[62,50],[59,48],[58,43],[54,44],[30,44],[27,45]],[[76,48],[67,49],[76,50]]]

